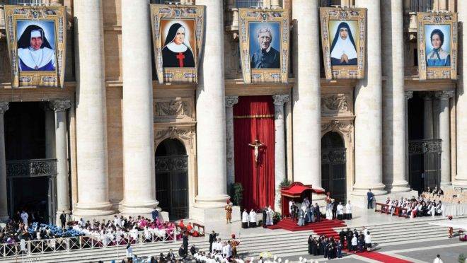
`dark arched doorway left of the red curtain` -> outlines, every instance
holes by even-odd
[[[177,139],[156,148],[156,198],[172,220],[188,218],[188,155]]]

